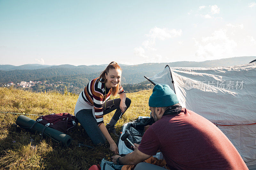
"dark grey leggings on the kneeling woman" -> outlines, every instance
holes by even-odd
[[[103,115],[106,115],[112,112],[113,110],[116,110],[112,119],[114,119],[115,121],[118,121],[119,118],[123,115],[122,110],[120,109],[120,102],[121,102],[120,98],[114,99],[114,104],[113,104],[113,100],[106,101],[106,107],[105,107],[105,103],[103,104]],[[128,108],[130,104],[131,104],[131,100],[129,98],[126,98],[125,100],[126,107]],[[80,110],[79,112],[76,113],[76,118],[78,122],[83,126],[88,136],[92,139],[93,144],[104,144],[106,142],[106,138],[104,137],[103,133],[101,132],[97,124],[97,121],[92,115],[92,109]]]

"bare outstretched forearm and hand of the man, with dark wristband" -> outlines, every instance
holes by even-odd
[[[116,159],[120,157],[119,155],[112,156],[112,162],[116,164]],[[119,162],[122,165],[137,165],[138,163],[150,158],[150,155],[140,152],[137,148],[124,157],[119,158]]]

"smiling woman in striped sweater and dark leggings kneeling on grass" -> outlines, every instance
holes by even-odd
[[[109,133],[116,134],[115,124],[131,104],[131,100],[126,98],[120,85],[121,74],[122,69],[116,62],[108,64],[100,77],[90,81],[80,93],[75,107],[75,116],[93,144],[104,144],[107,139],[110,150],[115,154],[118,154],[118,148]],[[120,98],[108,100],[111,94],[112,96],[119,94]],[[113,110],[116,112],[105,126],[103,115]]]

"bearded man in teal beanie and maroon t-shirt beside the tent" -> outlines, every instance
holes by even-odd
[[[148,105],[156,122],[147,129],[134,152],[113,156],[114,163],[136,165],[160,150],[171,169],[248,169],[221,130],[182,108],[168,85],[156,85]]]

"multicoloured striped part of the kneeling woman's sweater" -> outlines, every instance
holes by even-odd
[[[105,92],[105,83],[101,83],[99,78],[95,78],[86,85],[82,92],[82,97],[86,103],[93,106],[95,111],[95,119],[98,126],[103,123],[103,103],[105,103],[111,95],[112,88]],[[124,93],[124,89],[119,85],[118,94]]]

